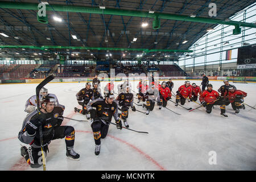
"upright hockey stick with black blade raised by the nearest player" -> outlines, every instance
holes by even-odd
[[[41,114],[40,111],[40,100],[39,100],[39,92],[44,87],[44,85],[48,84],[48,82],[52,81],[54,79],[53,75],[48,76],[46,79],[44,79],[38,86],[36,86],[36,106],[38,107],[38,114]],[[46,171],[46,157],[44,156],[44,150],[43,150],[43,129],[42,127],[39,127],[39,135],[40,135],[40,143],[41,143],[41,151],[42,151],[42,159],[43,159],[43,170]]]

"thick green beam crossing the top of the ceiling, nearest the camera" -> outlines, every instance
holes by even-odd
[[[0,8],[38,10],[38,3],[1,1]],[[99,7],[53,5],[53,4],[51,4],[51,6],[46,5],[46,10],[76,12],[76,13],[109,14],[109,15],[119,15],[119,16],[136,16],[136,17],[143,17],[143,18],[154,18],[155,20],[159,18],[159,19],[180,20],[180,21],[187,21],[187,22],[226,24],[226,25],[232,25],[236,27],[240,26],[240,27],[256,28],[256,24],[254,23],[237,22],[232,20],[225,21],[217,18],[204,18],[204,17],[192,18],[186,15],[176,15],[176,14],[157,13],[157,12],[152,14],[152,13],[148,13],[147,11],[138,11],[138,10],[123,10],[123,9],[111,9],[111,8],[100,9]],[[158,22],[156,21],[156,23]]]

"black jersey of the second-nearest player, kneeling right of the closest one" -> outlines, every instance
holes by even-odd
[[[97,100],[90,101],[86,107],[88,111],[93,109],[92,107],[96,107],[96,117],[100,118],[106,125],[109,125],[106,122],[111,122],[112,116],[115,121],[119,119],[117,102],[113,101],[112,104],[106,104],[105,99],[98,98]]]

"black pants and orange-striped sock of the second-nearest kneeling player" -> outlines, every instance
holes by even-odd
[[[109,126],[105,125],[99,118],[93,119],[90,125],[93,130],[93,138],[95,144],[101,144],[101,138],[105,138],[109,131]]]

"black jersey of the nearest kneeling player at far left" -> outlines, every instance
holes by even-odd
[[[19,131],[18,138],[21,142],[31,144],[31,146],[38,147],[40,144],[40,133],[36,132],[35,135],[28,135],[26,131],[27,122],[34,119],[43,118],[42,131],[43,131],[43,145],[49,144],[54,136],[54,129],[61,125],[63,121],[63,109],[59,106],[55,107],[51,113],[38,114],[37,110],[32,111],[23,121],[22,130]]]

